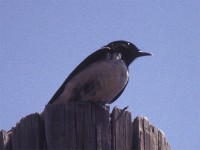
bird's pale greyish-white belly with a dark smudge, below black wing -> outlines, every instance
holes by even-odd
[[[120,93],[127,81],[128,69],[122,60],[99,61],[73,77],[56,102],[78,100],[109,103]]]

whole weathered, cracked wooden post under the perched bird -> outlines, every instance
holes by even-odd
[[[31,114],[9,132],[0,150],[170,150],[164,134],[147,118],[89,102],[47,105],[44,119]]]

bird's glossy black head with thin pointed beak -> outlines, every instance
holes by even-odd
[[[141,56],[151,56],[151,53],[139,50],[134,44],[127,41],[114,41],[106,45],[110,51],[121,53],[122,59],[129,66],[131,62]]]

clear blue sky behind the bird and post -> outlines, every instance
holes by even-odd
[[[41,112],[69,73],[115,40],[154,54],[111,105],[129,106],[172,149],[200,147],[200,1],[0,1],[0,129]]]

